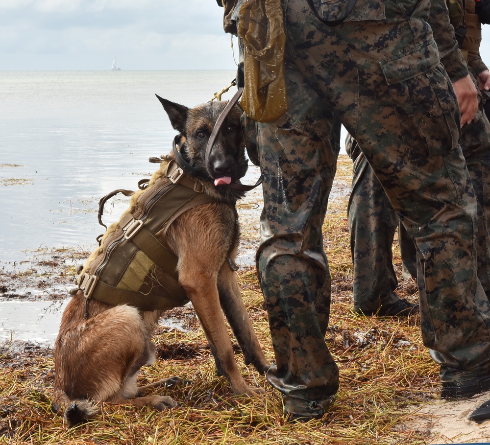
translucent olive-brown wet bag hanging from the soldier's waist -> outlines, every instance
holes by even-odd
[[[270,122],[288,109],[281,0],[245,0],[238,34],[245,47],[245,87],[240,105],[248,117]]]

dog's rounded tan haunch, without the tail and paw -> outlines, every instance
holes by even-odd
[[[63,325],[55,345],[59,386],[72,399],[120,396],[134,364],[143,364],[146,339],[138,310],[115,306],[68,329]]]

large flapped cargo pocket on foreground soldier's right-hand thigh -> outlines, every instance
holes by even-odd
[[[379,64],[410,161],[449,154],[459,143],[461,118],[434,39]]]

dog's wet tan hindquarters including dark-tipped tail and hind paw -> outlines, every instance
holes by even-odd
[[[69,304],[55,345],[54,391],[56,400],[65,405],[67,421],[74,424],[93,414],[88,409],[89,400],[133,403],[127,398],[139,393],[139,368],[151,362],[154,354],[148,346],[143,319],[134,307],[110,307],[76,323],[71,323],[70,315]],[[68,405],[63,394],[70,401]],[[170,402],[162,396],[151,396],[133,404],[163,409]]]

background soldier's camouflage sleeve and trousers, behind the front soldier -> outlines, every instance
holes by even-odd
[[[461,0],[433,0],[430,5],[430,24],[434,27],[441,60],[453,81],[470,73],[473,82],[478,70],[486,70],[481,63],[466,66],[454,40],[453,29],[463,23],[463,8],[474,12],[474,2]],[[463,44],[466,42],[466,37]],[[481,59],[480,59],[481,61]],[[483,65],[483,68],[481,68]],[[480,107],[469,125],[462,129],[461,145],[470,173],[478,204],[478,277],[486,293],[489,282],[489,217],[488,191],[490,187],[489,122]],[[350,138],[350,135],[349,135]],[[393,292],[397,280],[392,267],[392,240],[398,217],[386,193],[355,141],[348,138],[346,149],[354,161],[352,193],[348,206],[351,251],[354,261],[354,308],[356,311],[376,311],[381,304],[392,304],[399,298]],[[404,275],[417,277],[417,251],[402,224],[398,227]]]

